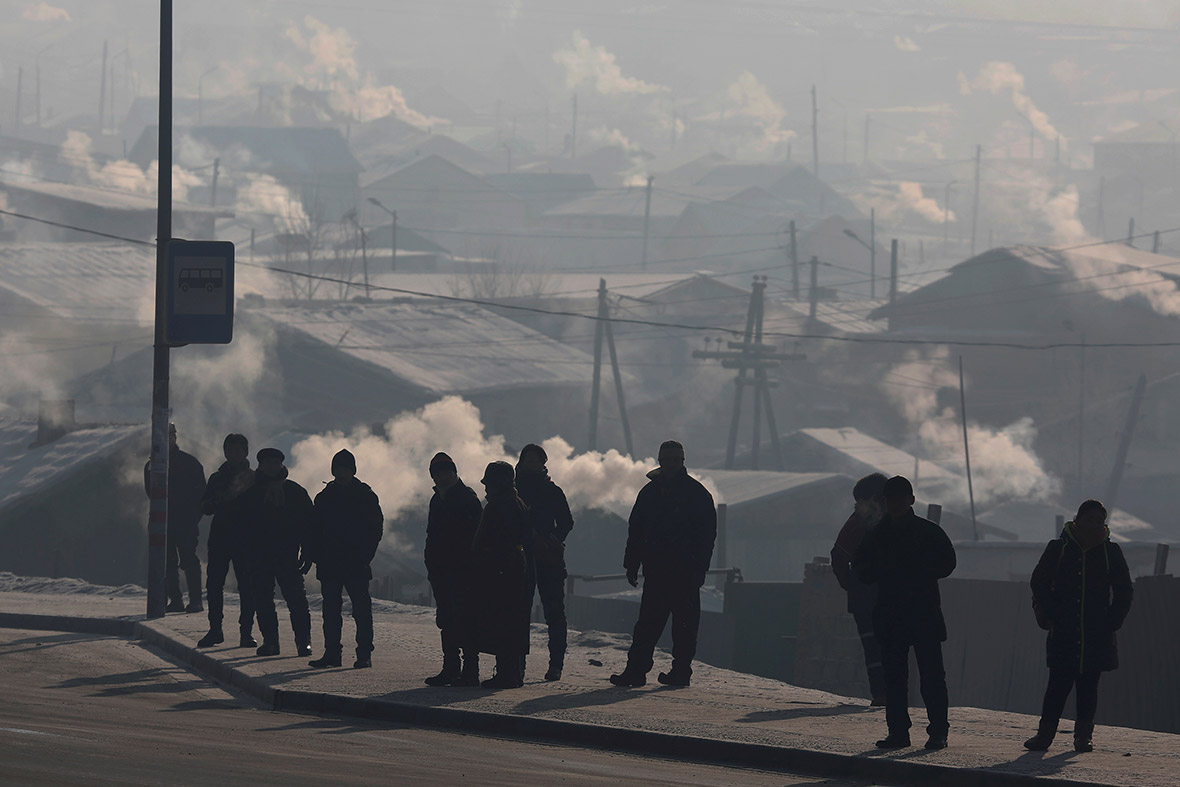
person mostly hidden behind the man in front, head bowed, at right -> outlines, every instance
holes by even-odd
[[[848,595],[848,612],[857,622],[860,645],[865,651],[865,668],[868,670],[868,696],[874,706],[885,704],[885,670],[881,667],[881,649],[873,634],[873,606],[877,604],[877,588],[866,585],[852,572],[852,556],[864,540],[865,533],[877,526],[885,514],[885,481],[881,473],[865,476],[852,487],[856,509],[832,547],[832,573]]]

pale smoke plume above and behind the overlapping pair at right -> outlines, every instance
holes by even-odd
[[[887,399],[900,411],[917,434],[919,450],[939,465],[953,468],[962,479],[950,504],[968,503],[963,427],[953,407],[939,407],[938,392],[958,388],[949,353],[940,348],[927,356],[912,352],[883,379]],[[1044,468],[1032,451],[1036,439],[1032,419],[1022,418],[1001,429],[968,422],[971,476],[977,505],[1004,500],[1049,500],[1061,484]]]

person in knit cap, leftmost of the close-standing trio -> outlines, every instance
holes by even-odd
[[[427,686],[479,686],[476,647],[476,558],[472,543],[484,506],[463,483],[454,460],[445,453],[431,459],[431,498],[426,522],[426,577],[434,593],[434,623],[442,640],[442,670]],[[459,654],[463,652],[463,663]]]

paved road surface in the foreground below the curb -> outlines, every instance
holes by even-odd
[[[273,713],[88,635],[0,629],[0,675],[5,785],[858,783]]]

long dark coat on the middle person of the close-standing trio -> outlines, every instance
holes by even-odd
[[[529,586],[524,538],[529,523],[514,490],[489,491],[472,542],[477,642],[480,652],[529,652]]]

